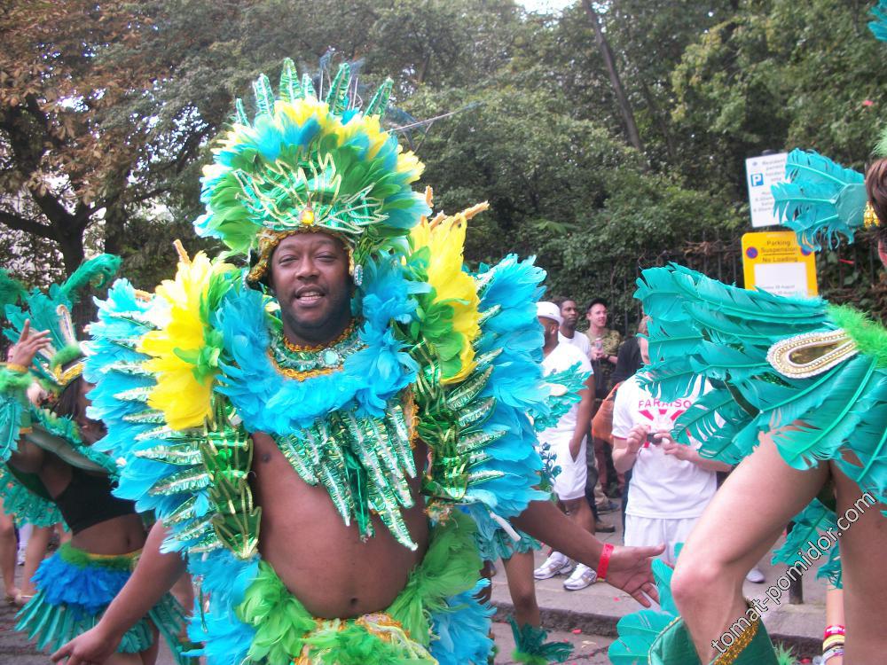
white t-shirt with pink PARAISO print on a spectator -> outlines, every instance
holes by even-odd
[[[636,425],[648,425],[656,432],[668,429],[701,395],[693,395],[672,403],[663,403],[640,386],[638,375],[626,379],[616,392],[613,407],[613,436],[624,439]],[[693,462],[666,455],[662,446],[642,444],[632,466],[632,486],[625,514],[655,519],[685,519],[703,514],[718,480],[715,472],[700,468]]]

